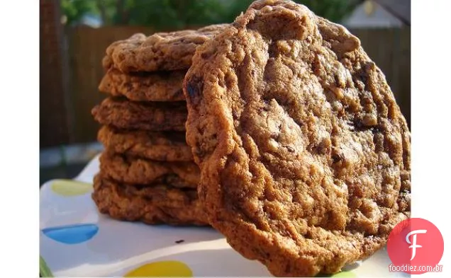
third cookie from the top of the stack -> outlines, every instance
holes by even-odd
[[[92,109],[94,119],[119,129],[143,129],[148,131],[185,130],[186,103],[143,103],[125,98],[106,98]]]

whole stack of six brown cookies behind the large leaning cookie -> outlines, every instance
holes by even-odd
[[[223,25],[136,34],[114,42],[92,113],[105,146],[92,195],[99,211],[147,224],[205,225],[196,188],[199,168],[185,140],[182,83],[198,45]]]

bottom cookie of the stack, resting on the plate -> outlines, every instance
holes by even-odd
[[[113,219],[145,224],[206,226],[206,216],[194,189],[166,184],[126,185],[96,175],[92,199],[99,212]]]

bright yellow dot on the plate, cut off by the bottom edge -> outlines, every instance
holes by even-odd
[[[193,277],[193,272],[183,262],[167,260],[141,265],[124,277]]]

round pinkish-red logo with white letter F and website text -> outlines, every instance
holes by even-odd
[[[430,221],[411,218],[401,221],[391,231],[387,252],[391,271],[408,274],[438,272],[443,255],[443,237]]]

